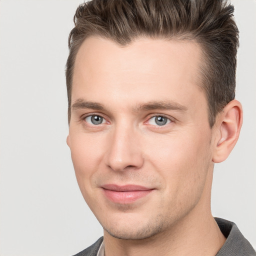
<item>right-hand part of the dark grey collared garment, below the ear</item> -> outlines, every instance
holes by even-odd
[[[226,241],[216,256],[255,256],[255,251],[248,240],[242,235],[235,223],[215,218]]]

